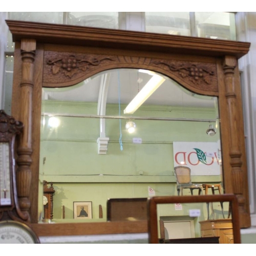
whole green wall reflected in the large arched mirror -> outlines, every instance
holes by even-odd
[[[53,110],[90,115],[96,114],[97,104],[43,102],[43,112]],[[118,106],[108,105],[106,114],[118,115]],[[136,116],[215,119],[216,110],[144,106]],[[66,218],[73,218],[74,201],[92,201],[94,218],[98,218],[101,204],[105,218],[108,198],[148,197],[148,186],[155,189],[157,196],[177,195],[173,141],[214,142],[219,139],[219,131],[214,137],[206,135],[207,122],[136,120],[136,133],[130,135],[124,129],[126,120],[121,120],[121,151],[119,120],[106,119],[106,137],[110,138],[108,152],[98,155],[96,141],[100,119],[61,117],[58,129],[50,130],[47,118],[41,130],[39,178],[40,182],[53,182],[56,190],[54,218],[61,218],[62,205],[66,207]],[[141,138],[142,144],[134,144],[133,137]],[[193,181],[219,182],[220,177],[196,176]]]

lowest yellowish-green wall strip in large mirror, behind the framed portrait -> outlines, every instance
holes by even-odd
[[[93,219],[99,218],[99,205],[102,205],[106,220],[106,201],[109,198],[147,198],[148,186],[156,195],[167,196],[175,193],[175,187],[168,183],[56,183],[54,184],[54,218],[61,219],[62,205],[65,205],[66,218],[73,219],[73,202],[92,201]]]

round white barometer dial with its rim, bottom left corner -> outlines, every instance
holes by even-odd
[[[0,244],[39,244],[33,230],[17,221],[0,222]]]

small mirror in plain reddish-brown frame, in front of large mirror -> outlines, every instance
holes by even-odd
[[[241,243],[234,195],[153,197],[147,207],[149,243]]]

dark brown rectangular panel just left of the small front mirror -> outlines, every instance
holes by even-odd
[[[106,202],[108,221],[147,219],[147,198],[111,198]]]

